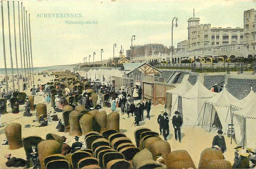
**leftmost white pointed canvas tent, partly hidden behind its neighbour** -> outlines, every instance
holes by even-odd
[[[171,114],[178,110],[178,96],[183,95],[193,86],[189,81],[187,81],[188,76],[189,75],[185,75],[183,77],[183,80],[178,87],[166,92],[166,100],[169,102],[169,104],[166,105],[166,108],[169,109]]]

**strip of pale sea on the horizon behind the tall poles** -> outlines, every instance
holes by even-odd
[[[48,66],[48,67],[34,67],[34,73],[38,73],[38,72],[42,72],[45,70],[72,70],[73,67],[75,67],[74,65],[62,65],[62,66]],[[29,68],[26,68],[26,72],[29,71]],[[13,68],[13,73],[17,74],[17,69]],[[21,74],[21,68],[19,68],[19,74]],[[24,73],[24,68],[23,68],[23,73]],[[31,68],[31,73],[32,73],[32,68]],[[7,74],[8,75],[12,75],[12,69],[11,68],[7,68]],[[0,75],[5,75],[5,68],[0,68]]]

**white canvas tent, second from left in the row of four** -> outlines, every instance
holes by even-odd
[[[200,79],[198,79],[189,91],[179,96],[178,109],[182,110],[183,124],[197,125],[197,118],[200,112],[202,112],[206,99],[210,99],[215,95],[216,93],[204,87]]]

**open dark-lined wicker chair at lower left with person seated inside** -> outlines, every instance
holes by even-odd
[[[26,152],[26,157],[29,159],[31,156],[30,153],[33,153],[32,146],[37,146],[39,142],[41,142],[43,139],[38,136],[28,136],[22,140],[23,148]]]

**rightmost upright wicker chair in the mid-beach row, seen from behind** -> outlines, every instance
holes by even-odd
[[[120,130],[119,130],[120,117],[119,116],[120,115],[117,112],[111,112],[107,115],[107,118],[106,118],[107,130],[112,129],[112,130],[116,130],[116,131],[120,132]]]

